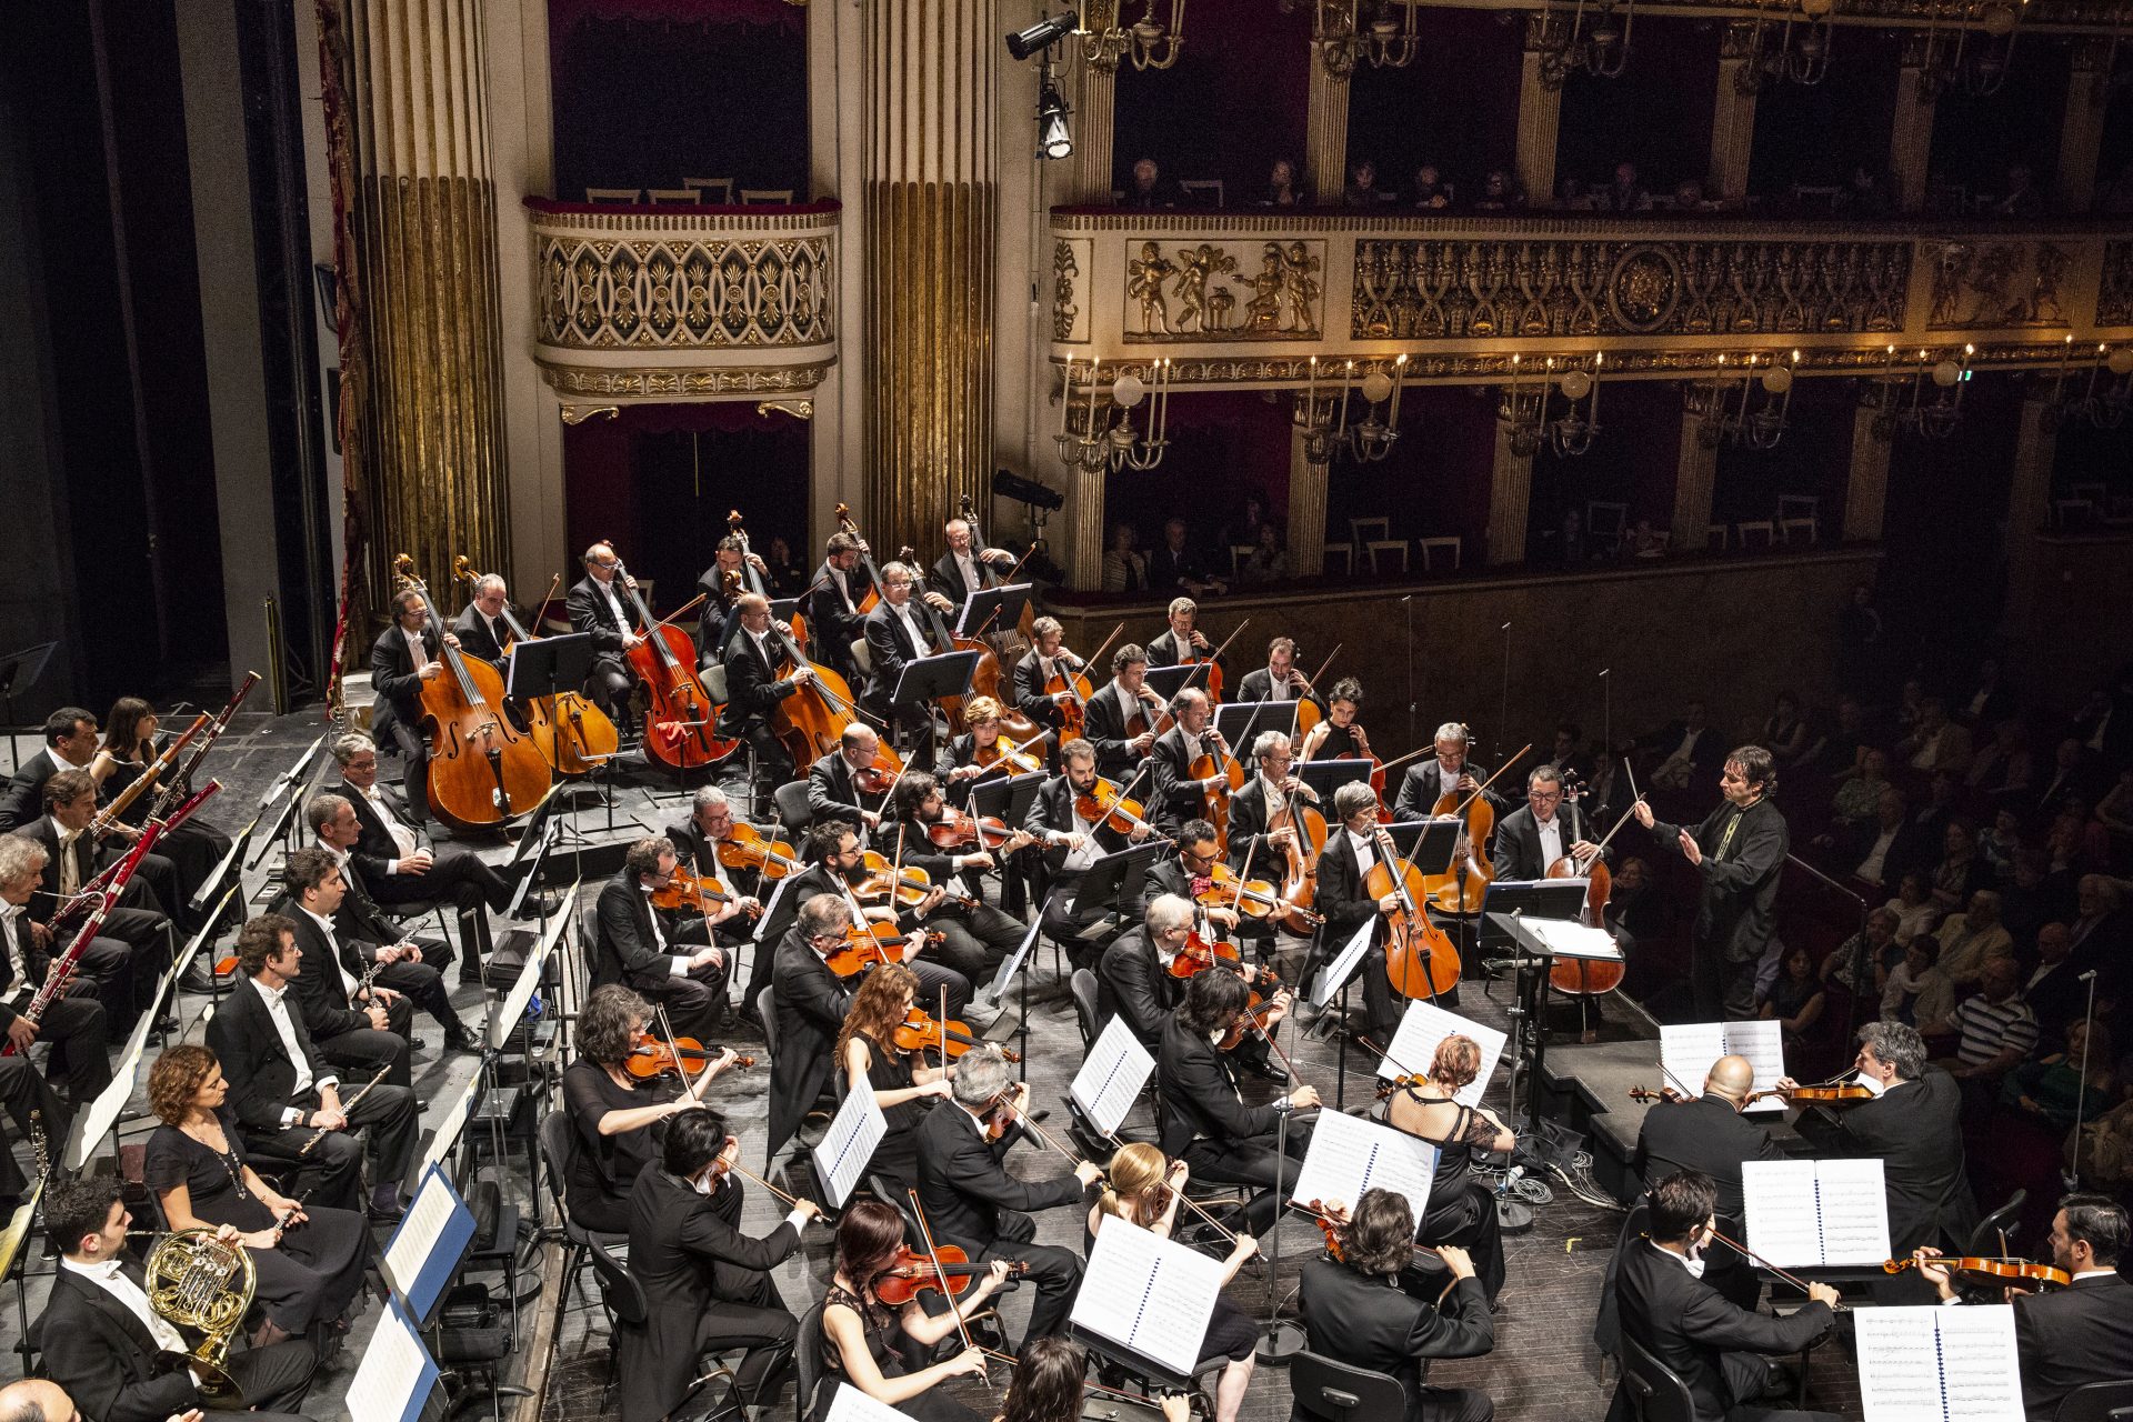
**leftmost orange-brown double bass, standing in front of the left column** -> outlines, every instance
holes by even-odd
[[[548,761],[540,746],[503,714],[503,678],[480,657],[459,650],[459,640],[437,616],[437,601],[414,576],[414,559],[392,559],[403,584],[422,595],[429,629],[437,635],[444,672],[422,678],[422,718],[429,723],[429,808],[452,829],[495,829],[531,814],[548,797]]]

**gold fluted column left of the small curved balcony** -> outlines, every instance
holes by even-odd
[[[480,0],[320,0],[348,36],[350,194],[369,345],[363,571],[448,599],[452,556],[510,567],[497,192]]]

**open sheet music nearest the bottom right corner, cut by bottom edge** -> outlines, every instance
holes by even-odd
[[[1866,1422],[2022,1422],[2014,1307],[1860,1309]]]

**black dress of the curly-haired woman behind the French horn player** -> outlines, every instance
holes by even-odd
[[[275,1215],[245,1190],[245,1143],[237,1115],[224,1106],[222,1136],[228,1153],[194,1141],[177,1126],[158,1126],[147,1138],[147,1187],[158,1196],[179,1185],[194,1219],[230,1224],[239,1230],[271,1230]],[[267,1318],[290,1335],[311,1324],[346,1320],[363,1294],[363,1266],[371,1234],[352,1209],[307,1205],[303,1224],[292,1226],[273,1249],[247,1249],[258,1275],[256,1298]]]

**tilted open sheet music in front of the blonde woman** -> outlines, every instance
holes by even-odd
[[[1096,1230],[1073,1322],[1190,1375],[1220,1292],[1222,1264],[1113,1215]]]

